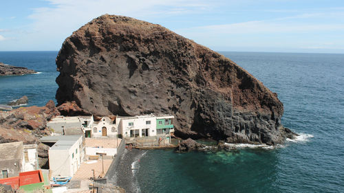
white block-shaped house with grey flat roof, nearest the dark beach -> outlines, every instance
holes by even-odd
[[[52,177],[73,177],[85,156],[83,135],[42,137],[43,144],[54,144],[49,149],[49,169]]]

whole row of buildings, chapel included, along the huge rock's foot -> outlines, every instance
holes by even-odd
[[[55,117],[47,123],[54,133],[62,135],[84,134],[85,137],[149,137],[174,132],[173,115],[137,115],[133,117],[102,117],[98,122],[93,116]],[[77,133],[80,130],[81,133]],[[70,133],[70,134],[69,134]]]

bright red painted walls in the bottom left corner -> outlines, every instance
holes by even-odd
[[[41,170],[34,170],[30,172],[21,172],[19,177],[10,177],[7,179],[0,179],[0,183],[11,185],[12,188],[17,189],[22,185],[28,185],[32,183],[44,182],[43,174]]]

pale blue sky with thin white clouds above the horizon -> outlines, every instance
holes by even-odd
[[[215,51],[344,54],[343,0],[1,1],[0,51],[58,51],[102,14],[158,23]]]

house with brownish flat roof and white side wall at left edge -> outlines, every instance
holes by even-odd
[[[24,145],[23,141],[0,144],[0,155],[2,179],[39,168],[36,144]]]

